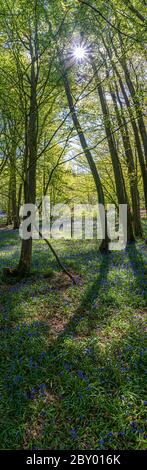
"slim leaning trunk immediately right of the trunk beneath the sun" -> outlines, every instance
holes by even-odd
[[[96,77],[97,91],[98,91],[98,95],[99,95],[99,99],[101,103],[102,113],[104,116],[104,126],[105,126],[107,141],[108,141],[108,147],[109,147],[109,151],[111,155],[112,165],[113,165],[118,203],[127,204],[127,241],[132,242],[134,241],[134,234],[133,234],[130,206],[129,206],[129,202],[128,202],[128,198],[126,194],[124,178],[123,178],[122,169],[121,169],[121,165],[120,165],[120,161],[119,161],[119,157],[118,157],[118,153],[117,153],[117,149],[115,145],[115,140],[111,131],[111,122],[110,122],[110,116],[109,116],[109,110],[107,107],[105,92],[101,85],[101,80],[98,77],[97,68],[93,60],[92,60],[92,68]]]

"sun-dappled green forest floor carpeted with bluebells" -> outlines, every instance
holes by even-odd
[[[145,449],[147,246],[102,256],[94,241],[43,241],[32,275],[6,283],[17,232],[0,233],[1,449]]]

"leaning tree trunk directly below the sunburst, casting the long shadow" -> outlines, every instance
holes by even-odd
[[[97,167],[96,167],[95,162],[93,160],[92,154],[91,154],[90,150],[88,149],[88,144],[87,144],[87,141],[85,139],[84,132],[81,128],[79,119],[77,117],[77,113],[76,113],[76,110],[75,110],[75,106],[74,106],[74,103],[73,103],[73,98],[72,98],[72,94],[71,94],[71,90],[70,90],[70,85],[69,85],[69,81],[68,81],[67,72],[65,73],[65,70],[64,70],[64,74],[63,74],[63,82],[64,82],[65,93],[66,93],[66,96],[67,96],[67,101],[68,101],[69,109],[70,109],[70,112],[71,112],[71,117],[72,117],[72,120],[73,120],[73,124],[74,124],[74,127],[75,127],[76,131],[77,131],[77,134],[78,134],[78,137],[79,137],[79,140],[80,140],[80,143],[81,143],[81,147],[82,147],[83,152],[85,154],[85,157],[88,161],[88,164],[89,164],[89,167],[90,167],[90,170],[91,170],[94,182],[95,182],[97,195],[98,195],[98,202],[99,202],[99,204],[102,204],[103,207],[105,208],[105,198],[104,198],[104,192],[103,192],[103,187],[102,187],[102,184],[101,184],[100,176],[98,174]],[[101,246],[100,246],[100,250],[104,251],[104,252],[107,252],[108,251],[108,244],[109,244],[109,239],[108,239],[108,235],[107,235],[107,216],[106,216],[106,211],[105,211],[105,234],[104,234]]]

